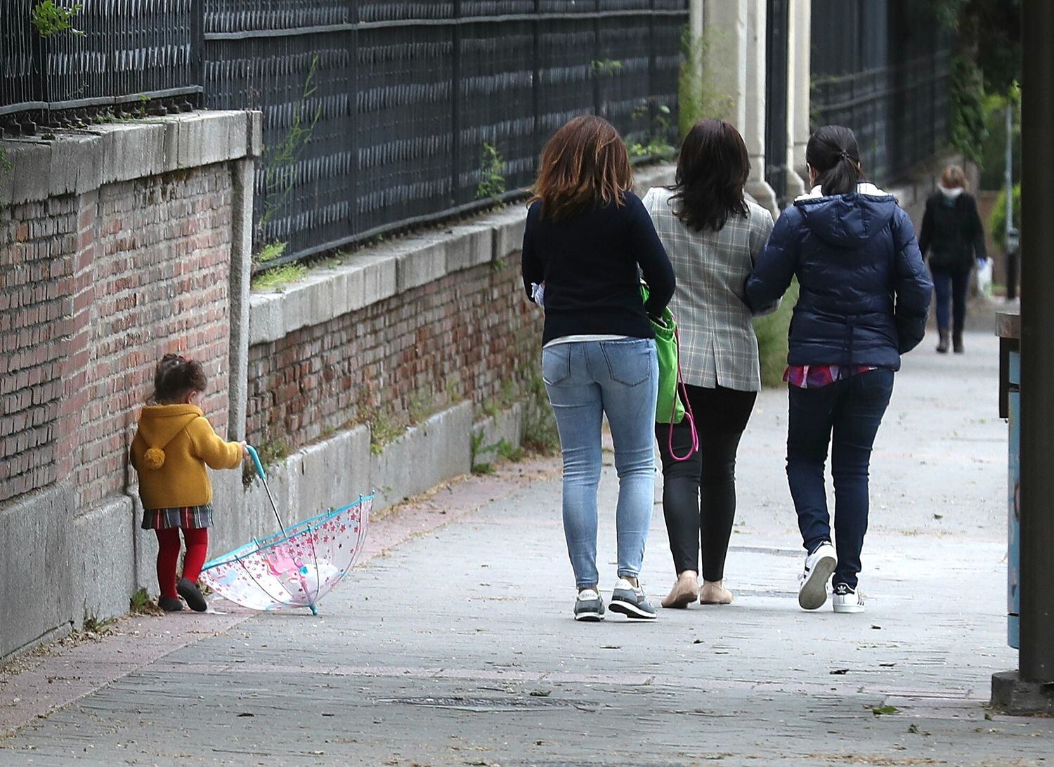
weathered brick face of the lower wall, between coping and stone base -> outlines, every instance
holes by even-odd
[[[249,351],[247,433],[289,448],[356,420],[484,404],[536,370],[519,256],[448,274]]]

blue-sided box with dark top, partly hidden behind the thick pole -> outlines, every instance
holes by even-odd
[[[1021,615],[1021,317],[996,315],[999,336],[999,416],[1009,422],[1007,455],[1007,643],[1020,649]]]

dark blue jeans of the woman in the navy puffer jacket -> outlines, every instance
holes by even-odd
[[[831,540],[824,465],[835,480],[834,584],[856,588],[867,532],[871,449],[893,394],[893,371],[873,370],[816,389],[789,387],[787,480],[806,551]]]

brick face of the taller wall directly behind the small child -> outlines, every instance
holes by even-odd
[[[0,500],[69,477],[121,492],[157,359],[210,377],[227,428],[231,170],[217,163],[15,205],[0,224]]]

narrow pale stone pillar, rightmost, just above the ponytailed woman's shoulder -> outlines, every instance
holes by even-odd
[[[807,191],[805,144],[809,136],[812,95],[813,0],[790,0],[787,39],[787,196]]]

